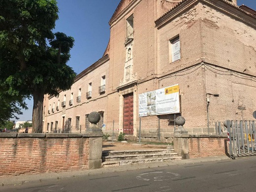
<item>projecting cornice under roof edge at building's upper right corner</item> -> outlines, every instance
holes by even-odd
[[[188,9],[191,9],[197,3],[205,3],[216,10],[220,10],[225,14],[242,21],[243,23],[256,28],[256,19],[255,16],[247,13],[239,6],[227,1],[227,0],[183,0],[178,5],[173,7],[170,11],[162,15],[159,19],[155,21],[156,28],[160,29],[174,18],[186,12]]]

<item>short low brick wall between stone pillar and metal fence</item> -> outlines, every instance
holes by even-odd
[[[209,157],[228,154],[227,135],[189,135],[189,157]]]

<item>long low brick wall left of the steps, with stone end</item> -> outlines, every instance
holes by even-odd
[[[101,153],[101,133],[0,133],[0,176],[100,168]]]

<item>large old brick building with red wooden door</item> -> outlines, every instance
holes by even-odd
[[[45,96],[43,131],[83,132],[98,111],[105,132],[169,141],[176,116],[193,134],[253,120],[256,11],[236,0],[121,0],[103,57],[71,90]],[[179,85],[180,111],[139,117],[139,95]]]

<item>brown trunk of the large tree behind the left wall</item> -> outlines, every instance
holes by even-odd
[[[44,93],[39,90],[33,93],[32,132],[34,133],[41,133],[43,131],[43,96]]]

